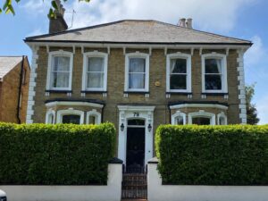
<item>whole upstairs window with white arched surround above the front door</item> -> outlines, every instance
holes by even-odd
[[[126,54],[124,86],[125,91],[149,91],[149,54]]]

